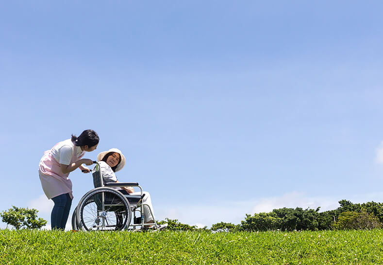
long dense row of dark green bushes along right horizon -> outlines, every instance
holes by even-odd
[[[240,230],[331,230],[331,229],[373,229],[382,227],[383,203],[366,202],[354,204],[348,200],[339,201],[336,210],[319,212],[320,208],[281,208],[272,212],[246,214]]]

